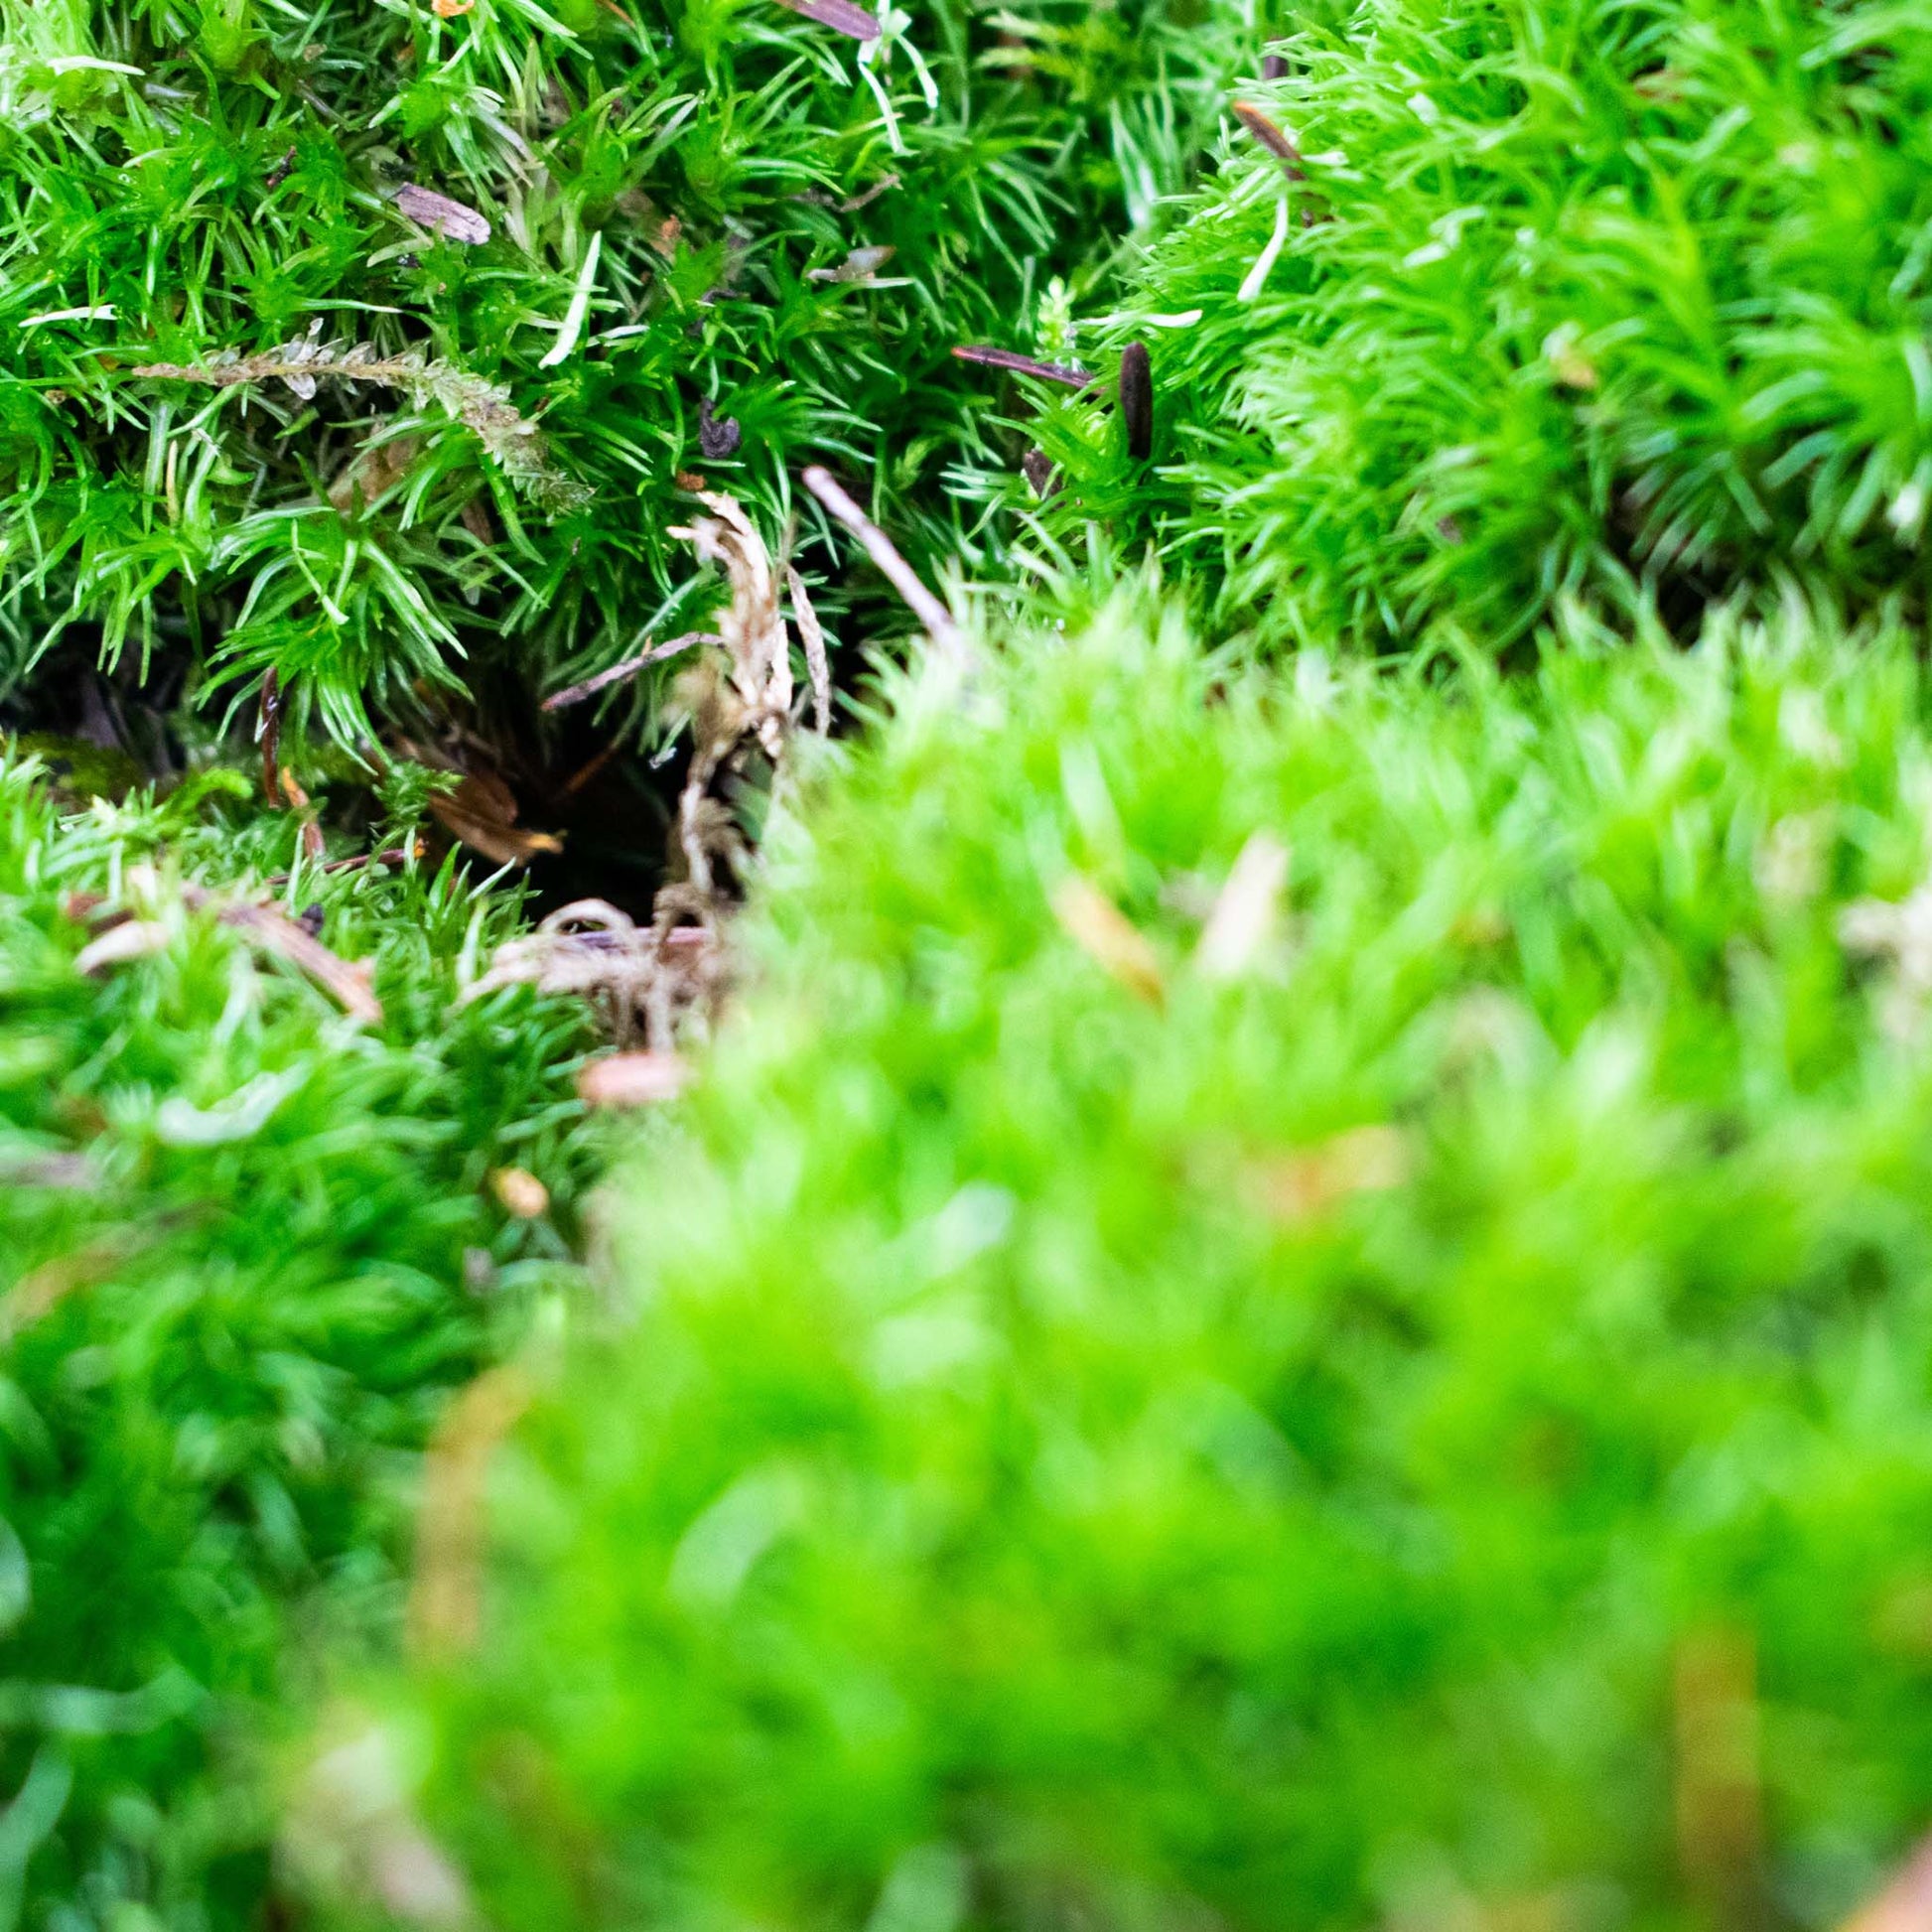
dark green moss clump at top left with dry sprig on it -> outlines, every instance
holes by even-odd
[[[951,543],[949,350],[1151,218],[1258,27],[842,17],[6,0],[0,696],[71,634],[344,742],[522,717],[676,628],[694,469]]]

